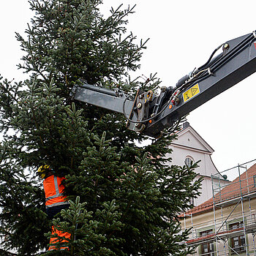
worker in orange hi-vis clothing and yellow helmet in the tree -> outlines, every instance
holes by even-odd
[[[64,195],[64,177],[59,177],[53,174],[53,170],[49,165],[42,165],[38,169],[39,176],[44,180],[44,190],[45,190],[45,206],[46,214],[50,219],[58,214],[62,209],[69,208],[69,203],[67,202],[67,196]],[[70,234],[67,232],[62,232],[56,227],[52,226],[52,235],[57,234],[61,238],[50,238],[50,247],[49,250],[56,249],[57,242],[67,243],[66,239],[70,238]],[[67,246],[61,247],[62,249],[68,249]]]

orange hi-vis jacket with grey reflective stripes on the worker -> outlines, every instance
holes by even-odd
[[[61,182],[64,180],[64,177],[49,176],[43,181],[45,189],[45,206],[46,208],[53,206],[62,206],[69,204],[64,196],[64,185]]]

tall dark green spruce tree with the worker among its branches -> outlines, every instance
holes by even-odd
[[[187,255],[178,213],[198,195],[194,168],[170,166],[174,135],[146,139],[125,127],[124,116],[70,102],[80,79],[135,94],[159,88],[159,79],[129,80],[146,42],[127,34],[133,8],[99,12],[101,0],[31,0],[20,83],[1,78],[0,234],[6,255],[46,252],[50,226],[72,234],[66,255]],[[64,175],[70,207],[45,214],[40,165]],[[61,218],[60,218],[61,217]],[[63,252],[62,252],[63,253]]]

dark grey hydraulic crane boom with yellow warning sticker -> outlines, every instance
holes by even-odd
[[[219,48],[222,53],[213,58]],[[84,83],[72,89],[72,98],[97,105],[128,119],[127,128],[158,138],[182,116],[256,72],[256,32],[232,39],[214,50],[210,59],[178,80],[175,88],[162,87],[159,95],[138,90],[134,99]]]

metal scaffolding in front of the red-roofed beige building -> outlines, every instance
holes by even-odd
[[[230,183],[223,184],[227,176]],[[226,178],[226,177],[225,177]],[[256,159],[211,176],[213,197],[184,214],[195,255],[255,255]]]

